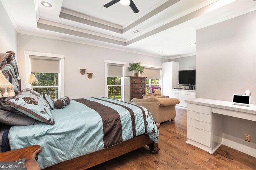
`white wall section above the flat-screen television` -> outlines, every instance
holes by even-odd
[[[179,63],[179,70],[194,70],[196,69],[196,56],[188,56],[177,59],[169,59]]]

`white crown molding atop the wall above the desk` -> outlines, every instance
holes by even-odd
[[[250,6],[248,8],[245,8],[245,9],[242,9],[242,10],[239,10],[239,11],[236,11],[236,12],[233,12],[231,14],[228,14],[226,16],[220,16],[218,18],[215,18],[213,21],[211,22],[208,22],[208,23],[204,23],[204,24],[198,24],[198,25],[195,25],[194,28],[196,30],[198,29],[201,29],[201,28],[204,28],[204,27],[208,27],[210,25],[214,25],[216,23],[220,23],[222,21],[226,21],[226,20],[230,20],[232,18],[235,18],[235,17],[238,17],[238,16],[241,16],[241,15],[244,15],[244,14],[247,14],[249,12],[252,12],[252,11],[255,11],[256,10],[256,6]]]

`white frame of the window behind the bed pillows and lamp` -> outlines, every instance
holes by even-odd
[[[26,74],[26,77],[31,72],[30,56],[59,58],[60,59],[60,73],[58,73],[59,85],[56,86],[56,87],[58,87],[58,98],[61,98],[62,96],[65,96],[65,94],[64,94],[64,59],[65,59],[65,55],[51,54],[51,53],[40,53],[40,52],[34,52],[34,51],[25,51],[24,55],[25,55],[25,74]],[[26,84],[25,87],[26,88],[31,88],[31,84]],[[50,87],[51,86],[44,86],[42,88],[50,88]],[[33,88],[39,88],[39,86],[33,86]]]

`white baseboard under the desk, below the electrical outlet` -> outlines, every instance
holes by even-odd
[[[222,145],[239,150],[240,152],[244,152],[250,156],[256,157],[256,149],[242,145],[240,143],[222,138]]]

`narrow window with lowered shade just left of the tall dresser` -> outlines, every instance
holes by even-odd
[[[107,63],[108,74],[107,74],[107,88],[108,98],[114,98],[117,100],[122,99],[122,86],[124,76],[124,65]]]

